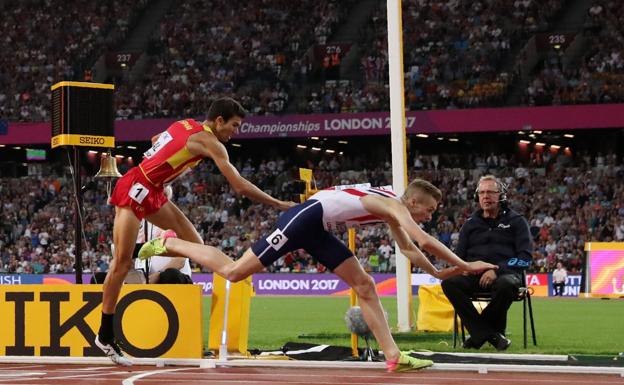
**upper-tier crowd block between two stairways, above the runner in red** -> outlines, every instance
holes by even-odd
[[[284,113],[287,80],[354,3],[182,2],[160,23],[150,70],[139,84],[120,87],[118,117],[199,116],[215,94],[235,97],[256,115]]]

